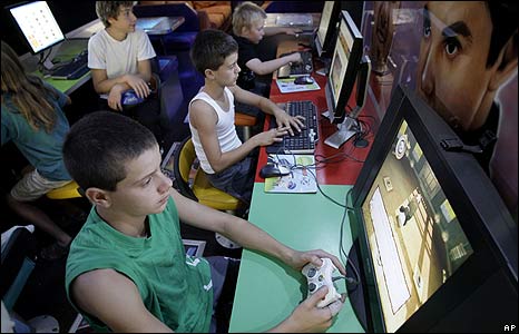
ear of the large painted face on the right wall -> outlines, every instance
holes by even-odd
[[[496,61],[496,72],[490,78],[489,90],[497,90],[517,71],[518,40],[517,30],[507,41]]]

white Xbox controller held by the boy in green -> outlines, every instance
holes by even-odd
[[[309,296],[314,294],[321,286],[327,286],[327,294],[321,302],[317,303],[317,307],[325,307],[331,303],[341,298],[341,294],[337,293],[335,285],[332,281],[332,273],[337,268],[333,265],[332,261],[327,257],[321,258],[323,264],[321,267],[309,263],[301,271],[309,281]]]

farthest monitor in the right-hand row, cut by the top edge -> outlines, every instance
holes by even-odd
[[[339,24],[339,16],[341,12],[341,1],[324,1],[321,21],[315,33],[315,49],[319,57],[331,57]]]

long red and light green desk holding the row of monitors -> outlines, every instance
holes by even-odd
[[[280,45],[277,51],[281,53],[287,49],[297,49],[297,40]],[[316,73],[312,76],[320,85],[320,90],[281,94],[277,85],[273,81],[271,100],[274,102],[311,100],[317,106],[319,112],[324,111],[326,109],[324,94],[326,78]],[[352,96],[350,104],[353,105],[353,102],[354,96]],[[371,98],[368,98],[361,115],[375,116]],[[265,121],[265,129],[268,118]],[[371,148],[375,128],[376,126],[373,125],[372,134],[366,137],[370,141],[369,148],[354,148],[352,140],[349,140],[337,150],[324,145],[324,139],[332,135],[336,127],[331,125],[327,119],[321,118],[320,140],[316,145],[315,156],[331,157],[347,153],[356,159],[364,160]],[[261,148],[257,170],[266,164],[266,158],[265,148]],[[351,185],[355,183],[361,167],[361,163],[352,159],[329,164],[325,168],[317,170],[317,181],[327,196],[339,203],[344,203],[344,196],[352,187]],[[321,193],[265,194],[264,180],[256,174],[249,220],[290,247],[298,250],[322,248],[339,256],[340,226],[343,214],[344,208],[333,204]],[[352,246],[352,233],[347,218],[342,236],[344,249],[347,252]],[[345,284],[337,284],[337,287],[340,293],[345,291]],[[277,259],[244,249],[229,332],[268,330],[285,320],[305,295],[306,279],[301,273],[286,267]],[[364,332],[349,298],[327,332]]]

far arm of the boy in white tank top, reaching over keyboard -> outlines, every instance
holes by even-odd
[[[242,89],[239,88],[239,86],[233,86],[229,87],[229,89],[237,101],[245,105],[254,106],[256,108],[260,108],[265,114],[273,115],[276,118],[278,129],[287,130],[291,134],[291,136],[294,136],[293,128],[298,132],[301,132],[301,129],[304,128],[304,124],[301,121],[301,119],[303,119],[302,117],[292,117],[287,115],[285,110],[277,107],[277,105],[271,101],[270,99],[264,98],[263,96],[260,96],[257,94],[253,94],[248,90]]]

